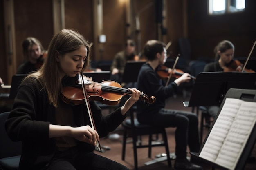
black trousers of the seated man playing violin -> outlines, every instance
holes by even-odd
[[[175,130],[175,155],[177,159],[186,158],[186,149],[190,152],[199,152],[198,117],[191,112],[161,109],[159,113],[137,115],[141,124],[157,127],[173,127]]]

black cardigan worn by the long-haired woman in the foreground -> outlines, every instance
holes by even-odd
[[[118,108],[109,115],[103,115],[101,108],[90,101],[95,127],[100,137],[115,130],[126,115]],[[86,106],[73,107],[75,126],[90,125]],[[55,138],[49,138],[49,124],[55,124],[55,108],[48,103],[47,93],[37,79],[31,77],[22,82],[18,89],[13,108],[5,123],[12,141],[22,141],[20,170],[44,167],[56,151]],[[94,146],[77,141],[81,152],[93,152]],[[85,160],[86,161],[86,160]]]

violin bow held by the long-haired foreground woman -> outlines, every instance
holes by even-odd
[[[94,124],[94,120],[93,120],[93,117],[92,117],[92,110],[90,108],[90,104],[89,104],[89,99],[88,99],[88,96],[87,96],[87,93],[86,93],[86,90],[85,90],[85,87],[84,87],[84,81],[83,81],[83,75],[82,73],[79,73],[79,76],[82,80],[82,89],[83,89],[83,95],[85,97],[85,104],[86,104],[86,107],[87,107],[87,111],[88,111],[88,115],[89,115],[89,118],[90,118],[90,122],[91,122],[91,125],[92,125],[92,128],[94,130],[96,130],[96,127],[95,127],[95,124]],[[97,130],[96,130],[97,131]],[[97,145],[97,148],[99,150],[99,152],[102,152],[101,150],[101,145],[99,144],[99,141],[96,141],[96,145]]]

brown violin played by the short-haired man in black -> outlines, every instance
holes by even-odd
[[[158,66],[156,71],[157,71],[157,75],[162,79],[167,79],[170,75],[171,75],[171,78],[177,79],[177,78],[181,77],[184,74],[184,72],[180,69],[175,68],[174,71],[173,71],[173,69],[168,68],[164,65]],[[194,76],[190,75],[189,77],[191,77],[191,79],[195,80]]]

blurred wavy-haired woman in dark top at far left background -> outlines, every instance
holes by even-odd
[[[22,49],[27,61],[18,67],[16,74],[27,74],[38,70],[47,57],[47,51],[44,50],[41,42],[34,37],[28,37],[22,42]]]

